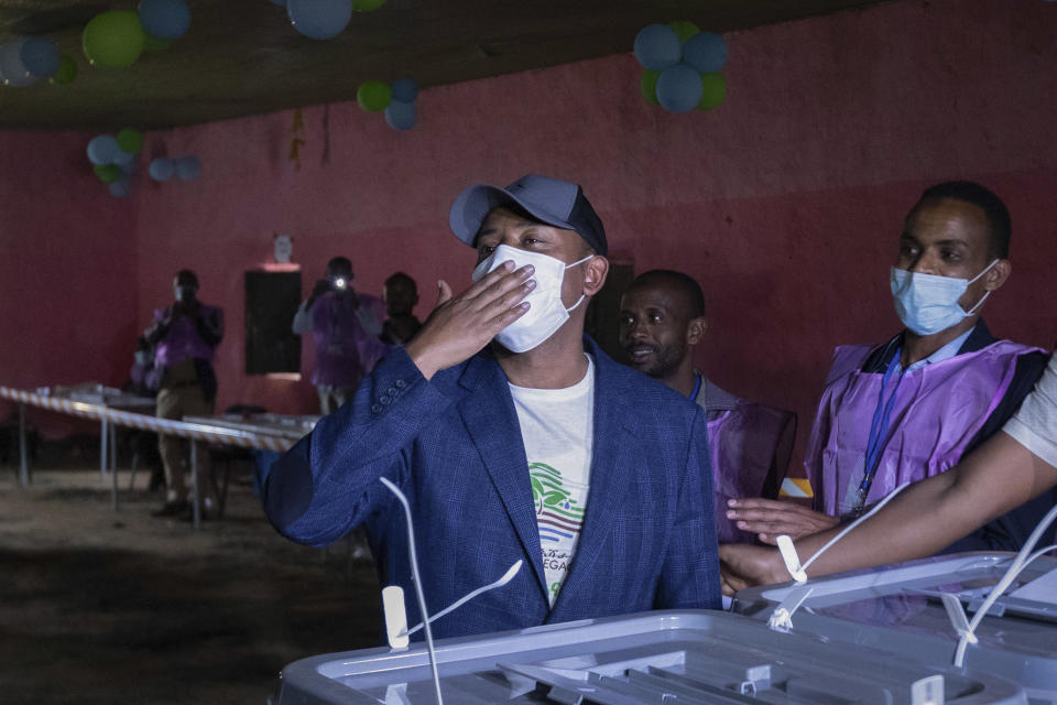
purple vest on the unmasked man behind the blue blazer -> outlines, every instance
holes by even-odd
[[[727,500],[760,497],[793,413],[739,399],[706,429],[712,467],[716,536],[720,543],[755,540],[727,519]],[[785,462],[788,462],[786,455]],[[777,468],[780,473],[784,467]]]

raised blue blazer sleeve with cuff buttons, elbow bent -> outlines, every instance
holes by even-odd
[[[263,491],[269,521],[298,543],[337,541],[388,506],[379,477],[404,486],[415,437],[451,403],[403,349],[394,350],[350,403],[272,465]]]

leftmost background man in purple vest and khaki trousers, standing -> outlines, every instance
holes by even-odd
[[[160,379],[157,415],[162,419],[201,416],[213,413],[217,397],[217,376],[213,356],[224,337],[224,312],[197,299],[198,276],[189,269],[181,270],[173,281],[176,299],[164,311],[154,311],[154,322],[144,332],[154,346],[154,372]],[[165,505],[155,517],[183,514],[190,517],[184,467],[187,465],[187,442],[160,434],[157,449],[165,467],[167,492]],[[203,517],[211,517],[216,499],[205,478],[209,454],[198,454],[198,488],[203,498]]]

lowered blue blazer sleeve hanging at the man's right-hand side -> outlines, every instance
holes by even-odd
[[[658,609],[719,609],[719,549],[705,413],[694,415],[676,519],[657,587]]]

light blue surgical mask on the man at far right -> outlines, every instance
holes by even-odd
[[[971,311],[958,303],[969,284],[988,273],[998,263],[992,260],[982,272],[972,279],[923,274],[905,269],[892,268],[892,296],[895,299],[895,313],[907,328],[917,335],[933,335],[961,323],[978,311],[988,300],[987,292]]]

